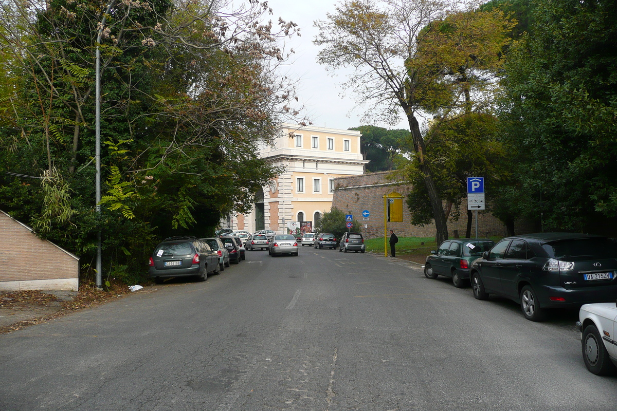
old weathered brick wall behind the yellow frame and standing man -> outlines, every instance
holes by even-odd
[[[339,208],[346,214],[353,214],[354,219],[360,221],[362,233],[366,238],[383,237],[384,235],[384,195],[397,192],[403,196],[403,221],[387,222],[387,232],[394,232],[402,237],[435,237],[436,229],[433,223],[424,227],[410,224],[411,214],[407,208],[407,195],[412,186],[392,180],[391,171],[363,174],[362,176],[339,177],[334,179],[334,197],[332,206]],[[426,201],[429,201],[428,198]],[[362,211],[370,211],[368,221],[362,220]],[[449,237],[465,236],[467,226],[466,213],[458,221],[448,220]],[[516,234],[533,232],[531,224],[523,221],[515,223]],[[471,237],[476,234],[475,221],[471,226]],[[487,212],[478,213],[478,237],[503,236],[505,225],[499,219]]]

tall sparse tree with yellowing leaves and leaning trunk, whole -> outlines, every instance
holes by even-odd
[[[467,89],[458,68],[472,73],[475,65],[492,59],[493,48],[464,41],[450,53],[464,60],[442,58],[442,52],[452,49],[452,39],[457,36],[444,30],[441,22],[447,15],[457,15],[462,10],[460,4],[452,9],[448,2],[439,0],[360,0],[343,2],[336,10],[336,14],[327,15],[327,20],[315,23],[320,30],[315,43],[324,47],[318,60],[332,69],[354,69],[345,86],[357,93],[358,100],[373,101],[372,112],[380,118],[393,121],[400,110],[404,112],[414,161],[418,162],[437,241],[441,242],[448,237],[447,221],[419,118],[423,112],[446,118],[468,107]],[[465,25],[459,27],[465,30]],[[501,19],[491,29],[504,33],[508,23]],[[450,46],[445,46],[448,42]]]

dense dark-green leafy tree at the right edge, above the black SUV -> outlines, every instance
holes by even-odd
[[[524,153],[516,170],[518,193],[528,200],[523,213],[545,230],[612,233],[617,217],[615,5],[531,3],[533,35],[523,36],[509,52],[503,81],[504,134]]]

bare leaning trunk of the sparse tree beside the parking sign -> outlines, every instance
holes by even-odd
[[[435,219],[436,229],[435,237],[437,244],[441,244],[448,239],[448,226],[447,219],[444,214],[444,206],[442,205],[441,199],[437,194],[437,187],[433,180],[433,173],[431,173],[431,169],[429,168],[426,158],[424,158],[424,153],[426,153],[426,145],[424,145],[424,139],[422,138],[422,133],[420,131],[420,124],[418,124],[418,120],[413,113],[406,114],[407,120],[409,121],[409,129],[412,132],[413,150],[418,154],[418,165],[420,166],[420,171],[424,176],[424,184],[426,185],[428,198],[431,202],[431,208],[433,209],[433,218]]]

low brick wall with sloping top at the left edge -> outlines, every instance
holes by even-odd
[[[77,290],[79,259],[0,211],[0,290]]]

